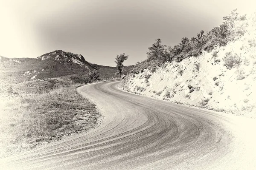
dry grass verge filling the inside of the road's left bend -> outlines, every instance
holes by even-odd
[[[52,142],[96,125],[95,105],[59,86],[34,94],[0,94],[0,157]]]

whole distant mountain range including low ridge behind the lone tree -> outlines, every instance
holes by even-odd
[[[81,54],[73,54],[62,50],[55,50],[37,58],[7,58],[0,57],[0,71],[20,77],[19,79],[47,79],[56,77],[70,77],[89,72],[99,71],[100,78],[115,77],[116,67],[97,65],[87,62]],[[131,70],[125,66],[124,74]]]

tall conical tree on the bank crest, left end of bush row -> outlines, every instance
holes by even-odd
[[[166,45],[161,44],[162,40],[158,38],[156,42],[149,47],[149,52],[147,52],[148,58],[147,61],[160,60],[166,62],[167,50],[165,49]]]

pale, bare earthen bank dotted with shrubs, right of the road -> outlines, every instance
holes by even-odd
[[[121,88],[169,102],[256,118],[255,16],[241,19],[238,14],[230,14],[229,36],[216,38],[226,43],[210,41],[202,45],[210,49],[194,48],[186,53],[189,40],[180,44],[182,52],[172,60],[168,57],[173,51],[164,51],[161,57],[167,59],[157,60],[150,59],[154,55],[149,52],[148,59],[136,65]],[[200,53],[195,55],[195,51]]]

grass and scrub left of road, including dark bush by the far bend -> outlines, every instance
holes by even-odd
[[[99,80],[97,71],[84,77]],[[100,113],[76,91],[88,82],[74,80],[30,80],[17,72],[0,72],[0,157],[96,126]]]

